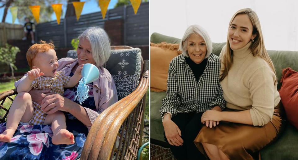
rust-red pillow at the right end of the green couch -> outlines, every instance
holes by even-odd
[[[280,82],[282,87],[279,90],[279,95],[287,119],[298,129],[298,72],[289,67],[283,69]]]

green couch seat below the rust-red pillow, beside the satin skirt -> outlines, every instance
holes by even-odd
[[[298,159],[298,130],[290,123],[287,123],[285,131],[279,136],[274,143],[261,149],[261,159]]]

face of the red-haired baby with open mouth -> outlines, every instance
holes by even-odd
[[[58,68],[56,52],[53,49],[38,53],[33,60],[33,69],[39,68],[45,77],[54,77]]]

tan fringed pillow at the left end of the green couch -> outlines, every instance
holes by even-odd
[[[174,57],[182,53],[178,49],[179,44],[150,43],[150,85],[155,91],[167,90],[169,64]]]

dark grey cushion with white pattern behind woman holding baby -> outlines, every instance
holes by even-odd
[[[69,50],[67,57],[77,58],[76,50]],[[142,55],[141,49],[111,50],[111,56],[105,67],[112,75],[118,100],[132,93],[139,84]]]

